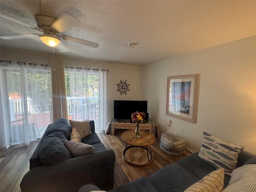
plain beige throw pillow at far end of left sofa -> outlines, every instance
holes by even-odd
[[[76,130],[80,134],[81,139],[92,134],[89,120],[83,120],[83,121],[68,120],[68,121],[70,122],[70,125],[72,128],[76,127]]]

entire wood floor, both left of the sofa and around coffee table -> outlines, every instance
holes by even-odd
[[[160,138],[156,138],[156,142],[148,147],[154,153],[152,164],[146,167],[130,166],[122,158],[122,151],[126,145],[121,140],[121,134],[124,131],[116,130],[115,136],[106,135],[104,131],[96,131],[104,146],[112,148],[116,154],[114,187],[140,177],[148,177],[162,167],[177,162],[191,154],[191,152],[186,150],[180,156],[171,156],[160,149]],[[29,170],[29,159],[37,145],[38,141],[31,142],[29,146],[21,144],[10,146],[8,149],[0,151],[0,192],[21,191],[20,182],[24,174]]]

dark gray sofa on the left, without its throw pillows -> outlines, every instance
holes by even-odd
[[[20,184],[22,192],[77,192],[88,183],[94,183],[102,190],[112,189],[114,151],[106,149],[100,142],[93,120],[90,121],[90,128],[92,134],[83,138],[82,142],[94,146],[96,152],[72,158],[63,141],[70,140],[72,129],[69,122],[59,119],[50,124],[30,158],[30,170]],[[50,149],[45,148],[45,143],[49,146],[49,142],[52,142]],[[49,151],[51,155],[46,158]]]

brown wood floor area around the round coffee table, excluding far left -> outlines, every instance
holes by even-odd
[[[156,137],[156,142],[153,145],[148,146],[148,149],[154,153],[154,160],[152,164],[146,167],[130,166],[124,162],[122,157],[122,151],[126,146],[126,143],[121,140],[121,134],[124,131],[126,130],[115,130],[114,136],[106,135],[104,131],[97,132],[101,142],[106,146],[106,148],[112,148],[116,154],[114,187],[120,186],[137,178],[148,177],[164,166],[177,162],[191,154],[191,152],[186,150],[185,153],[180,156],[169,155],[160,149],[160,138]]]

